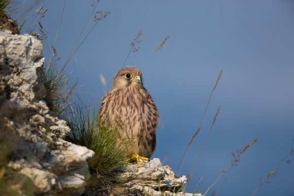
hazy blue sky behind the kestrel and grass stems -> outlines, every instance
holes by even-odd
[[[63,3],[54,0],[40,4],[48,8],[41,22],[49,31],[49,46],[54,43]],[[66,2],[56,43],[61,65],[92,9],[91,1]],[[153,158],[166,160],[165,164],[176,170],[197,129],[218,72],[223,69],[181,175],[191,171],[220,105],[187,190],[193,192],[201,176],[200,188],[206,190],[230,163],[231,152],[258,137],[241,156],[221,192],[251,195],[259,178],[265,177],[294,144],[293,9],[292,1],[272,0],[101,0],[96,11],[110,14],[97,24],[66,71],[72,72],[72,81],[79,80],[77,93],[84,102],[101,100],[105,92],[99,74],[104,75],[109,90],[130,50],[130,42],[142,30],[141,48],[130,54],[126,65],[142,69],[144,86],[160,112]],[[28,16],[28,20],[32,18]],[[93,24],[90,20],[82,37]],[[29,22],[23,32],[28,28]],[[166,35],[170,35],[169,40],[153,56]],[[46,48],[44,56],[49,57]],[[219,190],[223,179],[212,191]],[[293,195],[293,165],[282,163],[269,181],[257,195]]]

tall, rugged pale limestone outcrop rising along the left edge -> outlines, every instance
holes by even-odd
[[[32,194],[80,195],[94,152],[63,140],[70,129],[44,101],[42,50],[34,36],[0,31],[0,137],[11,145],[6,171],[31,182]],[[10,188],[22,194],[26,187]]]

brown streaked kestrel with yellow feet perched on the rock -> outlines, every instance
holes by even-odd
[[[136,67],[121,69],[111,90],[103,97],[99,121],[110,122],[120,131],[120,139],[128,139],[133,158],[150,159],[156,147],[159,114],[154,101],[143,87],[142,72]],[[142,158],[143,157],[143,158]],[[143,160],[148,160],[143,159]]]

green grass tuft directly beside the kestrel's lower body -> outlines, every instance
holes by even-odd
[[[86,146],[93,150],[95,155],[91,158],[89,168],[92,177],[91,183],[106,187],[112,185],[118,178],[117,174],[126,166],[126,153],[129,145],[126,140],[119,140],[117,127],[97,124],[97,110],[95,105],[82,107],[82,104],[73,104],[66,112],[66,121],[71,128],[69,141]]]

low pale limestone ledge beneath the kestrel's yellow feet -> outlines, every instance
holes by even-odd
[[[131,164],[120,174],[122,194],[141,195],[195,195],[182,192],[187,183],[186,176],[178,177],[169,166],[163,166],[159,159],[155,158],[150,162]]]

